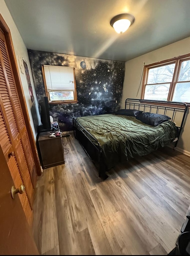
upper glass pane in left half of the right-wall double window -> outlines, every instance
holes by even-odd
[[[173,78],[174,68],[175,63],[149,69],[147,83],[152,84],[171,82]]]

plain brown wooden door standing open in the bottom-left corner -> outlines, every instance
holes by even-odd
[[[1,147],[0,174],[0,254],[37,255],[39,253],[19,197],[11,197],[14,183]]]

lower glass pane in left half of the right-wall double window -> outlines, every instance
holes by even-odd
[[[146,85],[144,99],[167,100],[170,84]]]

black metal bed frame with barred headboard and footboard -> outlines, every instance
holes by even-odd
[[[143,103],[144,102],[144,103]],[[168,104],[169,103],[169,104]],[[128,108],[129,107],[129,108]],[[156,109],[156,113],[159,113],[159,110],[164,110],[164,115],[166,114],[167,110],[173,111],[171,121],[175,119],[175,113],[180,111],[183,113],[181,125],[177,126],[179,128],[178,132],[178,139],[181,134],[181,130],[183,128],[183,123],[187,113],[187,104],[184,102],[169,102],[169,101],[162,101],[162,100],[145,100],[145,99],[126,99],[125,101],[125,109],[138,109],[144,108],[144,111],[148,108],[149,112],[151,110]],[[148,111],[146,111],[148,112]],[[155,112],[153,112],[155,113]],[[106,179],[108,176],[106,175],[107,167],[104,162],[102,148],[100,143],[96,138],[94,138],[75,118],[73,118],[73,128],[74,128],[74,135],[77,140],[79,140],[80,144],[84,148],[86,154],[90,157],[94,165],[99,170],[99,177],[102,179]],[[175,142],[175,148],[178,144],[178,139]],[[174,148],[174,149],[175,149]]]

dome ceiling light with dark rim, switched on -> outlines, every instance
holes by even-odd
[[[134,16],[129,13],[122,13],[110,20],[110,25],[119,34],[124,33],[134,23]]]

